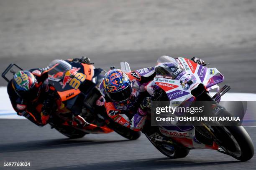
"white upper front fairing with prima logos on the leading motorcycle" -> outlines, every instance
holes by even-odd
[[[169,62],[164,62],[169,60]],[[160,62],[160,63],[159,63]],[[163,63],[164,62],[164,63]],[[195,89],[200,83],[207,85],[208,81],[214,75],[220,74],[216,68],[207,68],[206,66],[198,65],[189,59],[178,57],[176,59],[169,56],[161,56],[158,59],[158,65],[166,67],[166,63],[178,63],[184,71],[177,74],[177,77],[172,79],[169,76],[156,75],[154,82],[164,89],[172,101],[184,101],[193,97],[191,90]],[[187,82],[192,80],[192,84],[189,85]],[[208,90],[217,88],[218,86],[212,86]]]

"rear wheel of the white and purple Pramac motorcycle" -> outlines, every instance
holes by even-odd
[[[146,135],[146,134],[145,134]],[[162,143],[156,143],[151,140],[148,135],[146,135],[148,140],[165,156],[176,159],[176,158],[184,158],[189,154],[189,150],[186,148],[182,148],[179,146],[167,145]]]

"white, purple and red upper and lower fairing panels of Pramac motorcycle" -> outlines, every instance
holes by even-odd
[[[154,81],[151,82],[151,85],[154,83],[162,88],[170,100],[170,105],[174,103],[177,105],[177,101],[180,103],[185,100],[194,99],[191,95],[191,90],[195,89],[200,83],[206,86],[211,78],[220,72],[216,68],[207,68],[202,65],[198,65],[195,62],[187,58],[178,57],[176,59],[169,56],[161,56],[157,60],[157,67],[168,68],[169,65],[178,63],[181,66],[181,70],[176,74],[176,77],[167,76],[167,75],[156,75]],[[173,74],[172,74],[173,75]],[[189,83],[188,83],[189,82]],[[212,85],[207,90],[211,90],[214,88],[218,88],[218,85]],[[150,86],[147,87],[147,91],[150,93],[152,89]],[[176,101],[176,102],[174,102]],[[173,105],[174,106],[174,105]],[[173,122],[176,124],[175,122]],[[190,141],[189,148],[205,148],[206,145],[199,143],[195,140],[195,129],[191,129],[188,131],[176,131],[176,130],[168,130],[163,126],[159,126],[159,130],[162,135],[167,137],[174,138],[187,138]],[[179,141],[183,144],[183,140]],[[184,140],[184,145],[186,140]]]

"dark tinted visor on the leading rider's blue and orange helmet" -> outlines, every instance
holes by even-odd
[[[115,93],[108,93],[110,99],[114,100],[115,102],[126,102],[131,98],[132,94],[132,87],[129,85],[124,90]]]

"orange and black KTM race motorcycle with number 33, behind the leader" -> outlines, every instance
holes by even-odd
[[[9,82],[8,73],[13,76],[17,69],[22,70],[18,65],[10,64],[2,77]],[[58,109],[51,114],[48,121],[51,128],[69,138],[113,131],[129,140],[140,137],[140,132],[119,125],[107,115],[98,89],[104,73],[105,70],[95,68],[93,63],[84,64],[69,60],[54,60],[50,63],[46,82],[56,89],[60,98],[56,101]],[[75,118],[73,115],[76,115]],[[79,125],[83,120],[85,123]]]

